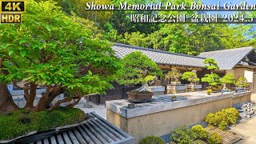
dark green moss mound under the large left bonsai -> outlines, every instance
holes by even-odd
[[[85,120],[86,114],[76,108],[58,107],[56,110],[30,112],[16,110],[0,115],[0,140],[6,140],[32,131],[50,130]]]

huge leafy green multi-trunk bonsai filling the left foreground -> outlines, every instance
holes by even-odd
[[[74,106],[83,95],[104,93],[120,68],[109,42],[94,38],[77,18],[66,16],[54,4],[26,1],[21,25],[0,25],[1,71],[8,72],[1,73],[0,80],[26,82],[22,89],[29,110],[49,108],[65,91],[70,97],[50,108],[72,99],[76,101],[69,106]],[[47,88],[33,106],[38,86]]]

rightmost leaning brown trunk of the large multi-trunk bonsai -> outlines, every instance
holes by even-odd
[[[62,88],[61,85],[57,86],[48,86],[46,89],[46,92],[42,94],[42,98],[40,98],[38,102],[38,106],[36,106],[36,110],[45,110],[48,109],[50,106],[50,103],[54,101],[54,98],[56,98],[59,94],[64,93],[64,88]]]

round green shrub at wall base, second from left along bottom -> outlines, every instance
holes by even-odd
[[[196,138],[193,131],[186,126],[172,130],[170,133],[170,139],[176,143],[190,144],[194,141],[194,138]]]

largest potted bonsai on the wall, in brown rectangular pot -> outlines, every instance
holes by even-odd
[[[118,78],[119,84],[142,85],[136,90],[127,92],[130,100],[151,99],[153,93],[148,91],[148,82],[154,80],[155,76],[162,76],[162,70],[158,65],[140,51],[127,54],[122,58],[122,74]]]

